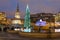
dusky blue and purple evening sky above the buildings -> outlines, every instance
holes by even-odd
[[[17,2],[19,2],[20,15],[23,18],[26,5],[29,5],[31,14],[57,13],[60,11],[60,0],[0,0],[0,11],[6,12],[7,17],[14,17]]]

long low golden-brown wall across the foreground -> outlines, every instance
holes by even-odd
[[[36,37],[36,38],[59,38],[60,33],[29,33],[29,32],[19,32],[20,36],[25,37]]]

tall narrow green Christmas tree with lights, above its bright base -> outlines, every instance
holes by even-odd
[[[30,28],[30,10],[29,10],[28,5],[27,5],[27,7],[26,7],[24,27],[25,27],[25,28]]]

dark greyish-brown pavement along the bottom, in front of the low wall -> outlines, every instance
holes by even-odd
[[[10,34],[7,32],[0,32],[0,40],[60,40],[60,38],[54,38],[54,39],[41,39],[41,38],[28,38],[28,37],[22,37],[18,34]]]

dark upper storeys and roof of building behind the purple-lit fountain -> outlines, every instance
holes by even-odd
[[[37,14],[32,14],[31,15],[31,21],[36,22],[39,19],[42,19],[43,21],[46,22],[54,22],[55,18],[53,16],[54,14],[52,13],[37,13]]]

